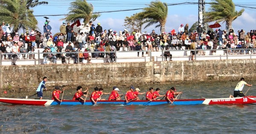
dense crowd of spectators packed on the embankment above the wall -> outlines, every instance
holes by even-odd
[[[183,24],[175,31],[160,34],[152,30],[151,33],[141,33],[141,31],[114,31],[112,29],[103,30],[100,23],[97,26],[92,21],[89,23],[70,23],[63,22],[60,26],[60,32],[52,35],[52,27],[45,22],[43,34],[40,31],[26,31],[25,34],[19,34],[17,31],[11,33],[9,25],[3,22],[0,26],[0,50],[3,53],[12,53],[13,43],[17,42],[19,46],[18,52],[22,55],[19,58],[32,59],[33,54],[22,54],[24,52],[35,51],[34,48],[44,48],[44,52],[77,52],[82,51],[102,51],[104,53],[92,53],[92,57],[106,57],[106,62],[113,62],[115,55],[113,51],[163,51],[163,50],[180,50],[180,49],[201,49],[198,55],[204,55],[204,49],[228,48],[229,54],[249,54],[248,50],[233,50],[235,48],[255,48],[256,31],[251,30],[245,34],[243,29],[236,32],[233,29],[229,31],[215,29],[215,31],[203,31],[201,24],[195,31],[189,32],[189,25]],[[25,45],[27,44],[27,46]],[[191,45],[192,44],[192,45]],[[215,51],[212,51],[214,54]],[[251,53],[255,54],[253,49]],[[143,54],[142,54],[143,56]],[[56,63],[56,59],[62,59],[63,63],[70,63],[70,58],[77,60],[88,60],[90,63],[90,55],[84,53],[78,55],[72,54],[44,54],[44,63],[47,59],[51,59],[51,63]],[[139,57],[139,52],[138,52]],[[12,59],[12,56],[3,54],[3,59]],[[193,58],[192,58],[193,59]]]

